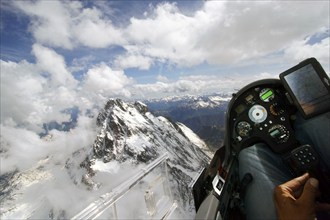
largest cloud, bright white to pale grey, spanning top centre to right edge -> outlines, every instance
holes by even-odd
[[[329,28],[328,18],[328,2],[207,1],[192,16],[163,3],[131,19],[127,50],[184,66],[235,63],[284,50]]]

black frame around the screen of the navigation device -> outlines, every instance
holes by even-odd
[[[301,68],[306,67],[307,65],[312,65],[315,73],[316,73],[316,77],[319,77],[320,81],[322,82],[324,88],[328,91],[328,95],[326,97],[326,100],[329,99],[328,102],[322,102],[319,105],[317,105],[317,107],[315,108],[315,110],[311,111],[311,112],[306,112],[305,109],[301,106],[298,98],[296,97],[296,94],[294,93],[294,91],[292,90],[292,88],[290,87],[290,84],[288,83],[286,76],[296,73],[296,71],[298,71]],[[320,115],[324,112],[330,111],[330,80],[329,80],[329,76],[325,73],[324,69],[322,68],[321,64],[315,59],[315,58],[309,58],[307,60],[304,60],[303,62],[299,63],[298,65],[286,70],[285,72],[280,74],[280,80],[284,86],[284,88],[287,90],[287,92],[289,93],[291,99],[293,100],[294,104],[296,105],[296,107],[298,108],[299,112],[302,114],[302,116],[305,119],[311,118],[311,117],[315,117],[317,115]],[[329,96],[329,97],[328,97]],[[322,104],[322,106],[321,106]]]

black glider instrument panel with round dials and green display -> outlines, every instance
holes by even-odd
[[[295,144],[291,126],[292,105],[279,84],[261,84],[235,97],[230,108],[231,144],[237,152],[266,142],[277,153]]]

